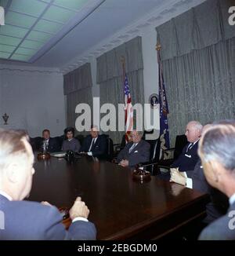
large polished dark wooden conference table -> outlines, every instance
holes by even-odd
[[[133,181],[132,171],[83,156],[36,160],[30,200],[71,207],[81,196],[98,240],[156,239],[204,214],[208,196],[157,177]]]

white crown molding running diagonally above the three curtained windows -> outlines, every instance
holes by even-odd
[[[205,1],[206,0],[164,1],[162,5],[158,5],[156,9],[150,13],[147,13],[146,16],[143,16],[139,20],[135,20],[132,24],[121,29],[120,31],[117,31],[117,33],[111,35],[109,38],[103,39],[103,41],[85,51],[85,53],[74,57],[74,59],[72,59],[69,63],[63,65],[63,67],[60,67],[60,71],[63,74],[67,74],[68,72],[73,71],[75,69],[74,67],[80,67],[91,58],[99,57],[110,49],[114,49],[115,47],[120,46],[124,42],[128,42],[128,40],[135,38],[138,35],[143,36],[147,30],[155,30],[155,27],[164,24],[164,22],[186,12],[194,6],[200,5]]]

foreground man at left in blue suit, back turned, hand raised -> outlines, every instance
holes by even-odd
[[[95,240],[96,228],[80,197],[71,207],[68,231],[56,207],[23,200],[31,192],[33,165],[27,135],[0,130],[0,240]]]

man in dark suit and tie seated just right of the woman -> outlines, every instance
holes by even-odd
[[[107,138],[99,135],[97,126],[91,126],[90,135],[85,137],[80,152],[94,157],[105,157],[107,155]]]

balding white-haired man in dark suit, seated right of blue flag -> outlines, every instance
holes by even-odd
[[[202,131],[201,123],[197,121],[191,121],[186,125],[186,137],[189,142],[183,148],[183,152],[179,155],[179,158],[172,163],[172,168],[178,168],[179,171],[186,171],[187,175],[190,175],[199,159],[197,155],[198,141],[201,137]],[[171,170],[172,171],[172,170]]]

